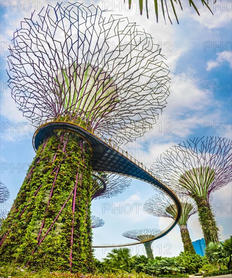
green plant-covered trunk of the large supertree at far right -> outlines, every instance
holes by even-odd
[[[210,242],[219,243],[218,227],[215,216],[212,212],[210,203],[206,198],[200,196],[192,196],[198,207],[199,221],[206,241],[206,245]]]

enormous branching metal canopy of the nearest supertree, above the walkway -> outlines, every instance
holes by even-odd
[[[156,122],[169,95],[159,45],[127,18],[103,13],[93,5],[48,5],[14,33],[10,87],[33,124],[67,116],[120,142]]]

